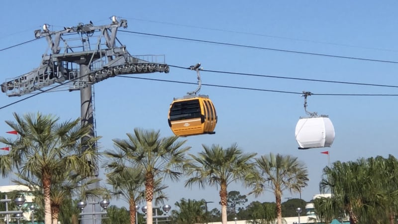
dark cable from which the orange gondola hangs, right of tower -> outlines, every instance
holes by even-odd
[[[169,65],[170,67],[181,68],[181,69],[190,69],[181,66]],[[243,76],[256,76],[256,77],[265,77],[265,78],[277,78],[277,79],[291,79],[291,80],[301,80],[301,81],[311,81],[311,82],[323,82],[323,83],[338,83],[338,84],[351,84],[351,85],[362,85],[362,86],[377,86],[377,87],[392,87],[398,88],[398,86],[393,85],[381,85],[381,84],[368,84],[368,83],[354,83],[354,82],[341,82],[341,81],[331,81],[331,80],[319,80],[319,79],[305,79],[305,78],[293,78],[293,77],[284,77],[284,76],[269,76],[269,75],[259,75],[259,74],[250,74],[250,73],[239,73],[239,72],[227,72],[227,71],[215,71],[215,70],[201,70],[203,72],[213,72],[213,73],[225,73],[225,74],[233,74],[233,75],[243,75]]]

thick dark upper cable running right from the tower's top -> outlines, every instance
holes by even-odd
[[[268,47],[257,47],[257,46],[250,46],[250,45],[232,44],[232,43],[209,41],[209,40],[199,40],[199,39],[191,39],[191,38],[184,38],[184,37],[175,37],[175,36],[167,36],[167,35],[160,35],[160,34],[152,34],[152,33],[134,32],[134,31],[128,31],[128,30],[119,30],[119,31],[120,32],[126,32],[126,33],[135,33],[135,34],[142,34],[142,35],[149,35],[149,36],[157,36],[157,37],[179,39],[179,40],[197,41],[197,42],[202,42],[202,43],[220,44],[220,45],[227,45],[227,46],[234,46],[234,47],[246,47],[246,48],[261,49],[261,50],[271,50],[271,51],[279,51],[279,52],[287,52],[287,53],[296,53],[296,54],[306,54],[306,55],[314,55],[314,56],[324,56],[324,57],[333,57],[333,58],[344,58],[344,59],[354,59],[354,60],[362,60],[362,61],[373,61],[373,62],[385,62],[385,63],[398,64],[398,61],[388,61],[388,60],[378,60],[378,59],[370,59],[370,58],[348,57],[348,56],[321,54],[321,53],[304,52],[304,51],[284,50],[284,49],[268,48]]]

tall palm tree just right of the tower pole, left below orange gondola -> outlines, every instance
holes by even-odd
[[[183,165],[188,162],[185,153],[190,147],[183,147],[186,140],[177,141],[178,136],[161,138],[160,131],[135,128],[134,134],[126,135],[127,139],[113,139],[115,151],[105,152],[113,160],[108,167],[113,169],[125,164],[143,172],[147,223],[152,224],[155,180],[161,176],[178,180],[183,174]]]

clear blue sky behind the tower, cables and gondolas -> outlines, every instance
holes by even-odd
[[[59,1],[40,3],[19,0],[3,2],[0,9],[2,29],[0,49],[34,38],[33,31],[44,23],[52,30],[75,26],[79,22],[109,24],[116,15],[127,19],[127,31],[249,45],[290,51],[339,55],[345,57],[398,61],[396,40],[398,3],[376,1]],[[154,37],[119,32],[118,39],[132,55],[164,54],[166,63],[189,67],[201,63],[205,70],[250,73],[279,77],[341,82],[397,85],[397,63],[314,56],[247,47],[235,47],[198,41]],[[0,82],[38,67],[47,43],[39,39],[0,51]],[[132,76],[132,75],[130,75]],[[196,73],[171,67],[170,73],[135,75],[153,79],[196,82]],[[398,94],[396,88],[320,83],[223,73],[201,73],[203,84],[235,86],[314,94]],[[97,133],[100,147],[111,149],[111,139],[125,138],[134,127],[160,130],[172,135],[167,123],[169,105],[196,89],[194,85],[115,77],[95,85]],[[215,135],[188,137],[193,154],[201,144],[228,147],[236,142],[245,152],[258,155],[290,154],[303,161],[309,172],[308,187],[302,199],[309,201],[319,192],[321,170],[331,162],[359,157],[388,156],[396,152],[397,97],[310,96],[308,111],[327,114],[336,132],[330,148],[298,150],[295,126],[304,116],[300,94],[250,91],[202,86],[200,94],[213,101],[218,123]],[[0,95],[0,107],[26,96]],[[79,92],[41,94],[0,110],[2,120],[12,112],[53,113],[62,119],[80,116]],[[0,122],[1,123],[1,122]],[[0,133],[9,131],[0,125]],[[3,147],[3,146],[1,146]],[[1,151],[0,153],[6,153]],[[184,188],[184,180],[169,183],[168,204],[181,198],[217,201],[218,190],[206,187]],[[8,179],[0,180],[8,184]],[[242,194],[240,185],[229,187]],[[284,192],[284,197],[299,197]],[[250,200],[274,201],[271,193]],[[124,202],[112,202],[119,206]],[[218,207],[209,204],[209,208]]]

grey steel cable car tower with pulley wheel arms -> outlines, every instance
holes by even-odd
[[[110,24],[106,25],[96,26],[90,21],[88,24],[64,27],[60,31],[52,31],[48,24],[44,24],[42,29],[34,31],[36,38],[45,38],[48,43],[39,67],[6,79],[1,84],[1,91],[8,97],[16,97],[68,84],[69,91],[80,91],[82,125],[91,124],[91,136],[96,136],[92,85],[117,75],[169,72],[164,55],[130,55],[126,46],[116,38],[118,28],[127,28],[127,20],[119,20],[116,16],[110,19]],[[96,173],[92,178],[99,175],[98,161],[94,160],[92,163]],[[85,210],[83,212],[92,212],[90,208]],[[100,212],[100,208],[98,210],[96,212]],[[82,223],[90,222],[83,220]]]

